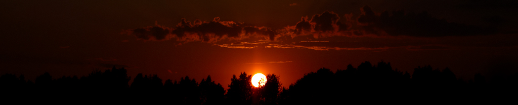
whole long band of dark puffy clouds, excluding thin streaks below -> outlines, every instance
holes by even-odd
[[[344,20],[339,14],[324,11],[321,14],[301,17],[294,26],[274,30],[260,27],[221,21],[215,17],[210,22],[195,20],[193,23],[182,19],[176,27],[169,28],[156,24],[144,28],[128,30],[128,34],[145,41],[163,41],[175,38],[180,42],[241,41],[243,39],[300,42],[328,38],[334,36],[412,36],[412,37],[443,37],[443,36],[475,36],[496,33],[495,28],[483,28],[436,19],[427,12],[405,13],[403,10],[383,11],[376,13],[369,6],[360,9],[362,14],[352,20],[353,14],[345,14]],[[499,17],[488,18],[487,21],[501,24]]]

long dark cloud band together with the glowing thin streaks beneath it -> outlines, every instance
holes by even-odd
[[[308,16],[303,16],[294,26],[277,30],[233,21],[221,21],[220,17],[215,17],[210,22],[200,20],[190,22],[182,19],[176,27],[170,28],[156,24],[155,26],[131,29],[128,33],[145,41],[176,39],[176,41],[184,43],[213,43],[214,46],[225,48],[266,47],[308,48],[313,50],[451,49],[451,47],[445,45],[458,41],[429,42],[429,39],[497,33],[495,28],[452,23],[445,19],[436,19],[427,12],[406,13],[403,10],[397,10],[377,13],[369,6],[360,8],[360,11],[361,14],[357,17],[354,17],[352,13],[340,16],[333,11],[324,11],[321,14],[312,15],[311,19]],[[494,24],[506,22],[499,16],[488,17],[486,21]],[[358,37],[361,37],[359,39],[372,39],[348,40]],[[406,41],[391,38],[402,38]],[[463,46],[462,44],[459,45]]]

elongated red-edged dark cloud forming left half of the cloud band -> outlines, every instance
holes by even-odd
[[[162,41],[177,38],[177,41],[202,41],[214,43],[221,40],[242,40],[252,35],[265,40],[275,40],[275,31],[268,27],[244,26],[233,21],[220,21],[215,17],[211,22],[182,19],[175,28],[160,25],[127,30],[127,33],[138,39]]]

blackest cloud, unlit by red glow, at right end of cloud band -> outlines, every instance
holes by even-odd
[[[376,14],[369,6],[362,8],[362,14],[357,18],[363,30],[373,34],[388,34],[390,36],[413,37],[443,37],[443,36],[476,36],[493,34],[493,28],[483,28],[436,19],[426,11],[421,13],[405,13],[403,10],[383,11]]]

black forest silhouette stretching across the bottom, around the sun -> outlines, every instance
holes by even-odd
[[[23,75],[4,74],[0,77],[3,96],[23,99],[93,99],[105,101],[144,101],[172,104],[344,104],[352,102],[378,103],[379,100],[450,100],[487,97],[516,92],[518,73],[497,81],[487,82],[481,74],[468,81],[457,79],[449,69],[418,66],[413,74],[393,69],[391,63],[371,64],[366,61],[335,73],[327,68],[310,72],[287,88],[280,76],[268,74],[264,86],[255,88],[252,75],[233,75],[225,90],[220,83],[207,78],[196,81],[185,76],[165,80],[155,75],[127,76],[125,68],[95,70],[88,76],[63,76],[57,79],[49,73],[34,81]],[[14,98],[16,98],[14,97]],[[92,97],[114,97],[96,99]],[[408,102],[408,101],[406,101]]]

